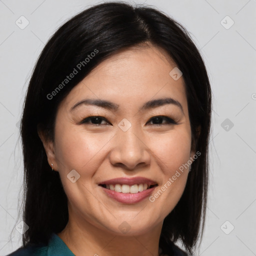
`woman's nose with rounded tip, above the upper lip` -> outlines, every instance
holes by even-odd
[[[134,170],[150,163],[149,145],[132,125],[128,130],[119,129],[114,136],[109,158],[114,166]]]

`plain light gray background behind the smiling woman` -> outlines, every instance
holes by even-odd
[[[17,204],[22,195],[17,123],[32,68],[60,24],[99,2],[0,0],[0,255],[21,245],[21,234],[13,229],[21,220]],[[183,24],[209,73],[213,92],[210,187],[205,232],[197,255],[256,255],[256,1],[132,2],[154,5]],[[29,21],[24,29],[15,24],[21,15]],[[228,29],[224,26],[232,21],[224,18],[227,15],[234,21]],[[233,127],[221,126],[226,118]],[[229,222],[224,223],[226,220]]]

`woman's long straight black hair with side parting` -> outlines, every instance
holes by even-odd
[[[67,197],[58,172],[47,163],[37,128],[54,140],[56,110],[68,92],[104,59],[147,42],[164,49],[182,71],[192,145],[201,153],[192,163],[180,200],[164,219],[159,243],[181,239],[192,252],[203,231],[207,198],[211,90],[206,68],[183,26],[153,7],[123,2],[97,4],[76,14],[56,30],[37,59],[21,119],[22,210],[29,226],[22,235],[23,246],[47,244],[50,234],[60,232],[68,221]],[[87,61],[91,52],[95,54]],[[56,90],[78,63],[77,74]]]

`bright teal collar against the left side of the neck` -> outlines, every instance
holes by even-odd
[[[73,252],[67,247],[64,241],[56,234],[52,233],[48,244],[48,256],[75,256]]]

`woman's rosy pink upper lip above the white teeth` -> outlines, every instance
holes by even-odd
[[[99,185],[107,185],[107,184],[127,184],[127,185],[134,185],[134,184],[149,184],[149,185],[156,185],[157,182],[153,181],[152,179],[145,178],[145,177],[120,177],[120,178],[112,178],[105,181],[98,183]]]

